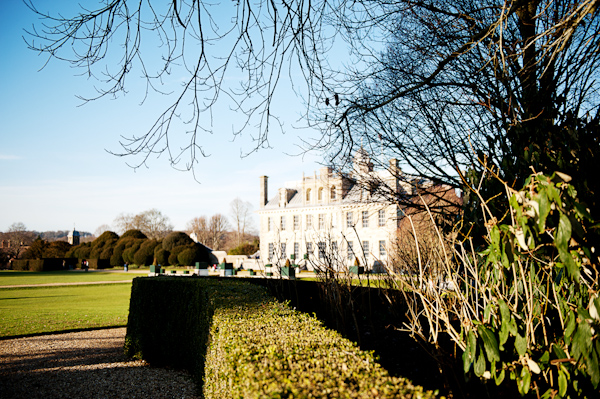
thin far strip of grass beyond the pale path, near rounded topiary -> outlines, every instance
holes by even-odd
[[[145,270],[144,273],[146,273]],[[139,274],[135,273],[135,271],[131,271],[130,273],[86,273],[82,271],[20,272],[2,270],[0,271],[0,286],[50,283],[83,283],[90,281],[120,281],[132,280],[134,277],[139,277]]]

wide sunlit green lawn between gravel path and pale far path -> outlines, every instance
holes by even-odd
[[[0,337],[125,326],[131,283],[0,289]]]

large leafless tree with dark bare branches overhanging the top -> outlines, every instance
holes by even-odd
[[[186,76],[150,130],[122,142],[138,166],[166,151],[192,169],[221,101],[247,116],[236,134],[257,127],[255,148],[268,146],[286,74],[323,133],[306,148],[340,170],[358,146],[375,167],[398,158],[411,183],[462,188],[486,170],[520,184],[531,165],[576,174],[598,163],[596,0],[112,0],[71,16],[28,4],[44,23],[29,46],[98,79],[90,99],[124,92],[131,73],[148,92]],[[340,47],[355,66],[329,61]],[[170,146],[175,132],[189,141]],[[584,187],[595,201],[598,183]]]

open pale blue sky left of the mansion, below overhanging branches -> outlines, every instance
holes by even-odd
[[[57,11],[77,4],[35,3]],[[165,156],[134,170],[127,162],[136,159],[108,151],[120,150],[122,136],[145,133],[170,99],[151,95],[142,103],[143,82],[132,75],[126,95],[82,105],[77,96],[93,95],[97,82],[57,60],[44,67],[46,57],[29,50],[23,39],[24,30],[36,23],[20,0],[0,2],[0,231],[21,222],[28,230],[94,233],[122,213],[152,208],[168,216],[175,230],[184,230],[197,216],[229,216],[237,197],[257,210],[262,175],[269,176],[271,197],[285,181],[320,167],[319,154],[290,155],[311,134],[293,128],[302,105],[290,90],[280,100],[285,134],[271,136],[272,148],[241,157],[255,132],[247,128],[233,140],[231,132],[243,119],[221,107],[213,112],[215,133],[200,138],[210,156],[199,159],[195,178],[173,169]]]

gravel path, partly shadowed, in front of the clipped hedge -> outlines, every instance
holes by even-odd
[[[183,371],[123,355],[125,328],[0,340],[0,398],[198,398]]]

